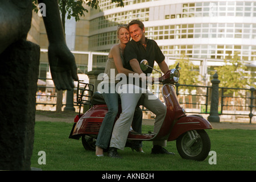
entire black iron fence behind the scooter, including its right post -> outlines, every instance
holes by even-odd
[[[39,78],[47,81],[51,79]],[[218,86],[220,81],[217,77],[213,78],[211,86],[199,85],[183,85],[176,84],[176,94],[180,105],[184,107],[187,113],[209,114],[217,119],[221,116],[225,120],[224,115],[232,116],[234,119],[249,120],[252,123],[255,113],[255,96],[254,88],[221,88]],[[161,87],[161,85],[159,86]],[[40,92],[39,92],[40,90]],[[76,88],[74,89],[74,106],[76,102]],[[159,88],[161,90],[161,88]],[[163,101],[162,94],[159,95]],[[56,105],[56,89],[55,86],[38,85],[36,93],[36,105]],[[65,95],[63,96],[63,105],[65,105]],[[144,111],[148,111],[143,108]]]

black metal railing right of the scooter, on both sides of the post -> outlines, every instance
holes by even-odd
[[[184,87],[183,90],[187,87],[193,87],[195,88],[203,88],[205,89],[205,94],[185,94],[180,93],[181,87]],[[219,100],[218,105],[218,114],[219,115],[234,115],[238,117],[247,117],[250,118],[250,123],[253,119],[253,111],[255,111],[255,89],[242,89],[242,88],[225,88],[220,87],[218,88],[220,97],[216,98]],[[237,90],[238,92],[245,91],[245,93],[240,94],[240,96],[230,96],[230,94],[225,94],[226,90]],[[202,92],[202,91],[201,91]],[[204,97],[205,99],[203,102],[199,103],[197,102],[180,102],[181,105],[201,105],[200,111],[189,111],[189,107],[185,108],[187,113],[197,113],[197,114],[210,114],[210,102],[211,98],[210,93],[212,92],[212,86],[198,86],[198,85],[182,85],[182,84],[176,84],[176,94],[179,98],[179,96],[192,96],[192,97]],[[233,92],[232,92],[233,93]],[[201,100],[202,101],[202,100]],[[203,109],[202,109],[203,108]]]

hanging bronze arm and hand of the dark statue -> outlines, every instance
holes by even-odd
[[[71,90],[73,80],[78,80],[75,57],[65,43],[63,26],[57,0],[38,0],[46,5],[44,26],[49,41],[48,60],[53,82],[58,90]]]

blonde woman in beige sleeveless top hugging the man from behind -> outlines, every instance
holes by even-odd
[[[106,75],[108,75],[109,79],[104,79],[104,81],[107,81],[109,83],[107,84],[109,86],[109,92],[103,92],[102,96],[104,97],[104,100],[108,105],[108,113],[105,115],[105,118],[102,121],[100,131],[98,133],[96,142],[96,156],[104,156],[104,148],[108,148],[109,146],[109,140],[112,134],[114,120],[118,113],[119,94],[115,91],[115,86],[118,81],[110,77],[110,71],[114,70],[115,76],[118,73],[124,73],[126,76],[128,76],[129,73],[135,73],[133,71],[123,68],[123,52],[126,44],[130,41],[130,32],[129,28],[127,27],[127,24],[118,26],[117,38],[119,39],[119,44],[115,44],[110,49],[108,60],[106,62],[105,73]],[[101,84],[104,84],[104,81],[102,81]],[[106,84],[104,84],[104,86],[105,85]],[[142,110],[140,107],[136,107],[134,111],[133,129],[138,133],[141,133],[141,123]],[[136,146],[132,146],[132,149],[135,149],[138,152],[143,152],[141,147],[141,142],[137,142]]]

